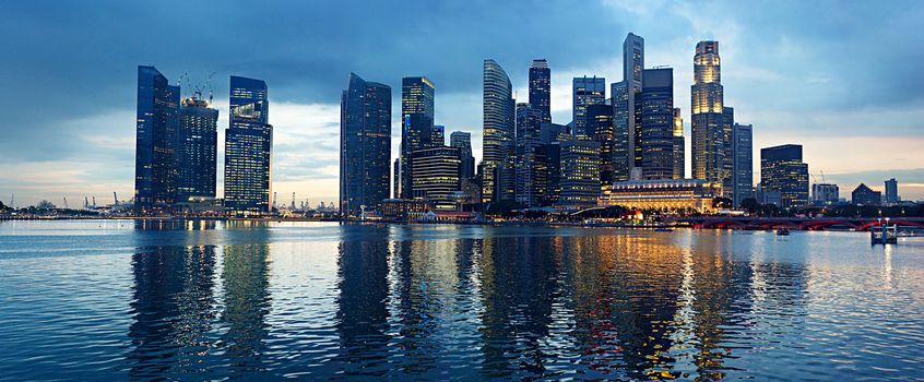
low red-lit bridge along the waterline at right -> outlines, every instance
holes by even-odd
[[[699,216],[699,217],[668,217],[665,223],[689,225],[704,229],[802,229],[825,230],[831,228],[869,230],[869,227],[881,224],[870,217],[731,217],[731,216]],[[889,219],[889,225],[900,227],[916,227],[924,229],[922,217],[896,217]]]

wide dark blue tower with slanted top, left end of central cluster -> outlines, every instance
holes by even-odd
[[[340,213],[381,206],[391,187],[391,87],[350,74],[340,103]]]

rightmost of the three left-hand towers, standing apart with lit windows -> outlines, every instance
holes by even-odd
[[[230,119],[225,131],[225,210],[262,215],[273,205],[273,127],[266,83],[232,75]]]

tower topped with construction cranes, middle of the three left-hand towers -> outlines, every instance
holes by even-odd
[[[218,110],[197,92],[182,100],[177,130],[177,202],[215,198]]]

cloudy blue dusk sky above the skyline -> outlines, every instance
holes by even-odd
[[[134,182],[137,68],[171,83],[214,73],[220,147],[228,76],[266,81],[274,191],[336,202],[340,94],[350,73],[392,87],[436,84],[436,123],[472,132],[481,157],[482,63],[500,63],[526,100],[533,59],[552,68],[553,121],[571,120],[571,79],[621,80],[621,45],[645,39],[645,67],[674,68],[689,147],[692,56],[718,40],[725,105],[759,148],[804,145],[818,182],[924,200],[921,1],[5,1],[0,3],[0,201],[70,206]],[[191,92],[187,81],[185,95]],[[689,166],[689,148],[687,148]],[[218,152],[220,168],[223,151]],[[222,193],[218,170],[218,193]],[[687,172],[689,175],[689,171]]]

